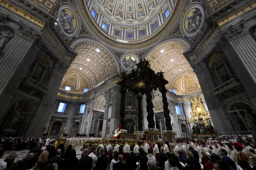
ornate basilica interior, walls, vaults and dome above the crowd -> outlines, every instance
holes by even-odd
[[[254,0],[2,0],[0,8],[1,132],[112,137],[121,125],[176,138],[255,134]],[[135,73],[145,94],[120,85]],[[151,73],[163,76],[162,88],[147,86]],[[200,116],[206,131],[195,130]]]

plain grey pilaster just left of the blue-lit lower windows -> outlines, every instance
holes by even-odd
[[[48,84],[48,94],[46,94],[38,107],[34,120],[31,123],[26,136],[41,136],[45,128],[49,116],[56,109],[55,99],[60,88],[61,80],[66,72],[67,66],[57,62],[52,68],[52,74]]]

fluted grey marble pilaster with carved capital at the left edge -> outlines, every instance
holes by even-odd
[[[0,124],[39,51],[37,46],[39,33],[33,29],[25,31],[24,27],[20,25],[20,32],[14,35],[0,57]]]

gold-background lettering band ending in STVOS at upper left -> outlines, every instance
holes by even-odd
[[[8,3],[7,1],[5,0],[0,0],[0,4],[2,6],[4,6],[5,8],[8,8],[12,11],[14,11],[15,13],[18,13],[19,15],[23,16],[24,18],[36,23],[37,25],[41,26],[41,27],[44,27],[45,23],[42,22],[41,20],[35,18],[34,16],[28,14],[27,12],[23,11],[22,9]]]

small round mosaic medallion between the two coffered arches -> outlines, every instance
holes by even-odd
[[[131,71],[137,68],[136,64],[139,63],[139,58],[135,54],[124,54],[120,58],[120,65],[126,71]]]

